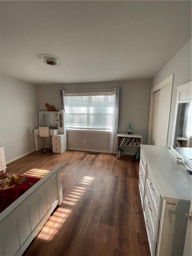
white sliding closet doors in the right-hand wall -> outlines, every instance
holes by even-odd
[[[172,84],[154,92],[151,145],[166,146]]]

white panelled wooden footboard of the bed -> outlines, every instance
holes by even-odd
[[[0,255],[22,255],[63,201],[61,166],[57,165],[0,213]]]

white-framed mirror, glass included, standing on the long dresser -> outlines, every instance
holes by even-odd
[[[177,87],[177,101],[171,150],[192,166],[192,82]]]

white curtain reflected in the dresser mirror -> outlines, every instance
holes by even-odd
[[[192,136],[192,103],[185,103],[185,114],[183,123],[183,137],[187,139],[187,147],[191,147],[190,137]]]

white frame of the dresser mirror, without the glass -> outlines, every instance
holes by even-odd
[[[178,121],[178,106],[179,103],[187,103],[192,102],[192,81],[182,84],[177,87],[177,98],[176,98],[176,106],[175,106],[175,116],[174,116],[174,123],[173,123],[173,133],[172,133],[172,140],[171,140],[171,151],[172,153],[177,157],[182,157],[183,164],[189,168],[192,169],[192,161],[190,161],[188,158],[186,158],[184,155],[179,153],[174,147],[175,147],[175,139],[176,139],[176,133],[177,133],[177,121]]]

